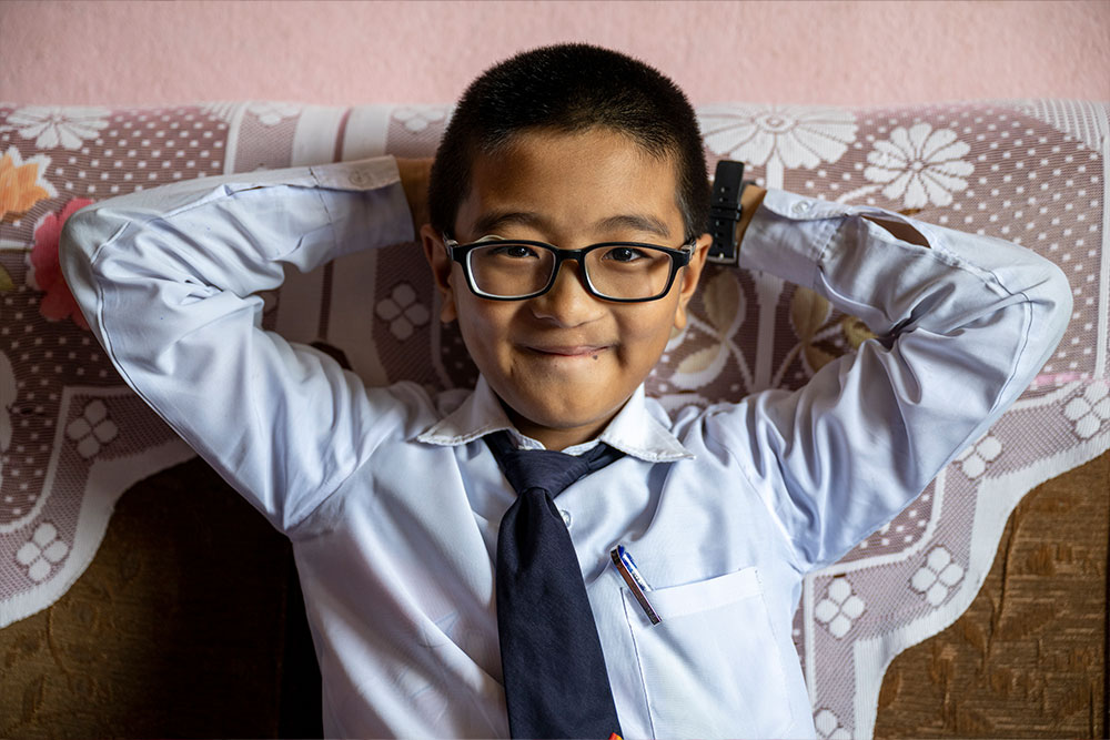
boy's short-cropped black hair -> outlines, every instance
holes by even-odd
[[[525,131],[607,128],[675,163],[686,239],[706,231],[709,181],[694,108],[658,70],[584,43],[541,47],[482,73],[463,93],[435,153],[428,183],[432,226],[451,234],[471,186],[474,156]]]

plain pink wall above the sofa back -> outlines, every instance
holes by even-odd
[[[695,102],[1110,100],[1110,2],[0,2],[0,99],[444,102],[585,40]]]

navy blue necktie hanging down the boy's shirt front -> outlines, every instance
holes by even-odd
[[[624,453],[585,455],[513,447],[485,437],[517,497],[497,534],[497,632],[514,738],[620,734],[597,626],[571,534],[552,500]]]

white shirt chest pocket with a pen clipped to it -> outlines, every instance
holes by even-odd
[[[783,658],[755,568],[647,596],[658,625],[627,589],[624,608],[655,737],[768,738],[790,727]]]

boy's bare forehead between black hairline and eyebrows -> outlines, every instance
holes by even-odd
[[[609,129],[519,133],[495,152],[476,154],[471,173],[455,223],[464,239],[506,216],[552,241],[598,236],[636,219],[662,224],[660,235],[672,241],[682,236],[673,158],[653,155]]]

